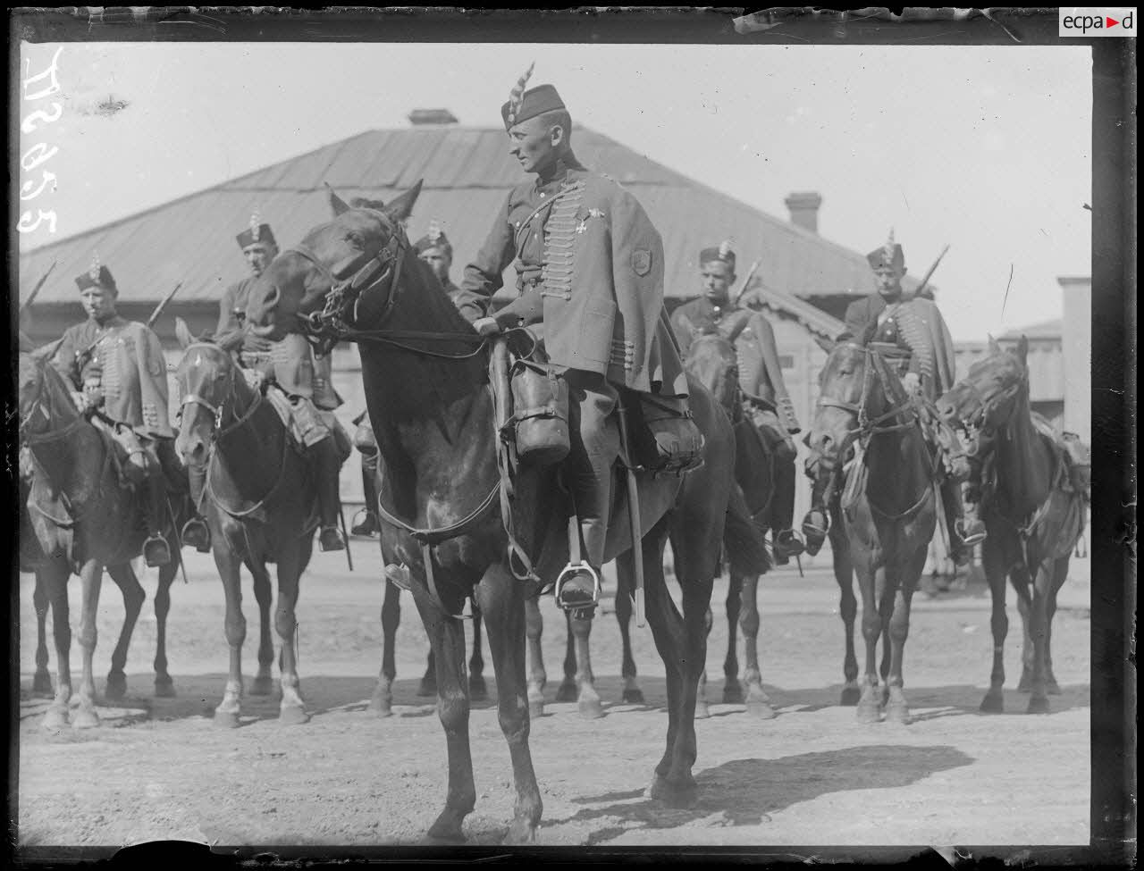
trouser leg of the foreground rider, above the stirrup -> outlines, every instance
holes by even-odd
[[[620,454],[620,430],[613,411],[619,393],[595,373],[570,370],[566,469],[580,521],[582,558],[593,568],[604,564],[604,541],[612,506],[613,465]]]

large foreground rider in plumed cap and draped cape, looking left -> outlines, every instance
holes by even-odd
[[[628,191],[577,160],[564,102],[550,85],[525,90],[531,73],[530,66],[501,118],[509,153],[537,177],[509,192],[461,290],[487,306],[511,264],[518,297],[474,326],[492,335],[542,325],[549,366],[567,383],[565,470],[580,538],[569,544],[582,559],[565,569],[559,605],[580,610],[598,594],[621,449],[620,389],[654,394],[666,416],[656,433],[661,454],[701,445],[701,435],[685,416],[686,377],[664,311],[662,240]]]

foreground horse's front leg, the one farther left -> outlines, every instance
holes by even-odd
[[[448,752],[448,789],[445,793],[445,808],[429,828],[427,840],[460,844],[464,840],[461,824],[464,817],[472,813],[472,807],[477,802],[477,790],[472,783],[472,753],[469,748],[464,626],[461,621],[445,614],[442,607],[429,598],[426,586],[421,584],[413,586],[413,600],[416,602],[434,650],[434,663],[437,669],[437,717],[445,729],[445,746]],[[488,617],[492,617],[492,608],[487,609]],[[493,630],[492,634],[496,634],[496,630]],[[500,678],[499,669],[496,676]],[[515,702],[510,687],[501,689],[500,700],[502,704]]]

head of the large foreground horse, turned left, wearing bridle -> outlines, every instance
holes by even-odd
[[[351,208],[331,191],[334,218],[283,250],[251,288],[246,319],[255,335],[271,341],[288,333],[332,337],[331,330],[350,319],[387,311],[395,301],[397,272],[420,263],[402,227],[420,192],[418,182],[374,209]]]

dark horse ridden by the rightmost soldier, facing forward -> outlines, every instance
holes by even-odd
[[[840,504],[861,591],[866,639],[858,719],[876,722],[884,706],[888,720],[908,722],[903,653],[909,602],[937,524],[936,461],[913,402],[877,351],[839,344],[820,377],[808,438],[818,494],[831,486],[848,449],[856,448]],[[880,637],[882,693],[875,666]]]

